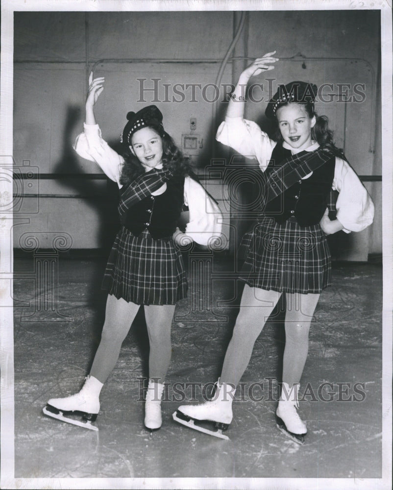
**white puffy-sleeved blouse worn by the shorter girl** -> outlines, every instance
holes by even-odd
[[[82,158],[96,162],[105,175],[117,182],[119,189],[122,187],[120,175],[124,159],[102,139],[98,124],[83,124],[83,133],[76,137],[74,150]],[[217,203],[188,176],[184,179],[184,203],[190,210],[186,235],[200,245],[211,244],[212,237],[220,239],[222,214]]]

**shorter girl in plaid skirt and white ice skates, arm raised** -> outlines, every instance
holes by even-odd
[[[76,138],[74,149],[83,158],[96,162],[120,188],[122,227],[102,283],[108,291],[105,322],[90,374],[80,392],[50,399],[44,413],[97,430],[91,421],[99,412],[101,388],[143,305],[150,345],[145,426],[152,430],[162,424],[161,397],[171,359],[175,304],[187,295],[182,256],[175,243],[195,240],[209,245],[221,234],[221,213],[164,130],[163,116],[156,106],[127,114],[121,139],[124,157],[107,145],[94,115],[103,84],[103,77],[93,79],[90,74],[84,131]],[[177,227],[183,204],[190,211],[184,233]],[[84,421],[64,416],[72,412]]]

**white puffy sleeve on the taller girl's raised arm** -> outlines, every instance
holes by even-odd
[[[258,124],[241,117],[225,118],[217,130],[216,140],[247,158],[255,158],[262,172],[268,166],[271,152],[276,146]]]

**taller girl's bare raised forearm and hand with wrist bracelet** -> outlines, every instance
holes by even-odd
[[[244,72],[241,73],[239,81],[235,87],[235,90],[232,92],[232,97],[228,103],[228,108],[226,111],[227,118],[243,117],[248,80],[251,78],[251,76],[274,70],[274,65],[270,64],[278,61],[278,58],[274,58],[272,56],[274,53],[275,51],[272,51],[264,54],[262,58],[257,58],[251,63],[251,65],[247,66]]]

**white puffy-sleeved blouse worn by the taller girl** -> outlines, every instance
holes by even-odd
[[[273,148],[276,146],[276,142],[270,140],[258,124],[241,117],[226,118],[219,126],[216,139],[241,155],[256,159],[262,172],[265,172]],[[295,150],[285,142],[283,147],[293,153],[303,151]],[[314,143],[306,149],[313,151],[318,147],[318,143]],[[311,174],[312,172],[304,178],[308,178]],[[344,226],[343,231],[346,233],[362,231],[372,223],[374,218],[372,199],[356,172],[339,157],[336,157],[332,189],[339,192],[336,202],[337,219]]]

